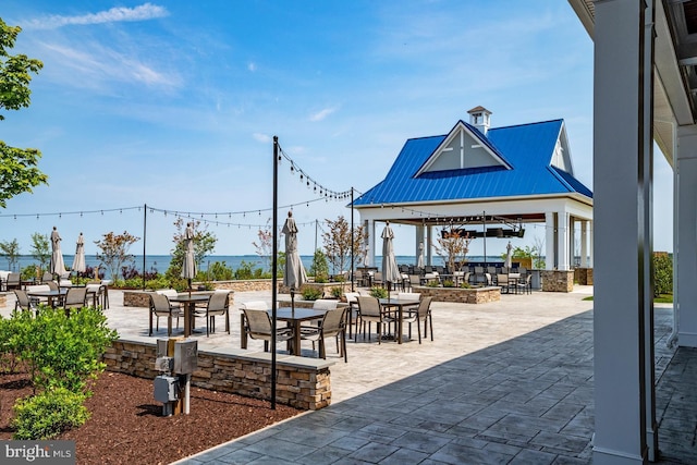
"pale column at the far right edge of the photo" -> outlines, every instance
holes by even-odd
[[[677,129],[677,343],[697,347],[697,126]]]

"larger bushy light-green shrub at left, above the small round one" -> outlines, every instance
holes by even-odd
[[[29,366],[36,388],[65,388],[87,392],[87,380],[105,369],[101,355],[118,339],[107,317],[94,307],[72,311],[44,307],[36,318],[15,313],[16,339],[12,345]]]

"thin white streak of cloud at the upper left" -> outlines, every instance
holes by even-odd
[[[98,13],[88,13],[78,16],[50,15],[32,20],[26,28],[56,29],[63,26],[118,23],[124,21],[147,21],[169,15],[164,7],[144,3],[135,8],[117,7]]]

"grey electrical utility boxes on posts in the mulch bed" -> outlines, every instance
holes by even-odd
[[[198,367],[198,341],[193,339],[158,339],[155,369],[155,400],[162,402],[162,415],[189,413],[192,374]],[[182,395],[183,392],[183,395]]]

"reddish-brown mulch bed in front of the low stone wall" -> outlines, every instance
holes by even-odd
[[[57,439],[74,440],[77,464],[168,464],[261,429],[301,411],[192,388],[191,414],[162,416],[152,380],[103,372],[86,406],[91,418]],[[0,440],[12,438],[12,405],[32,394],[28,377],[0,375]]]

